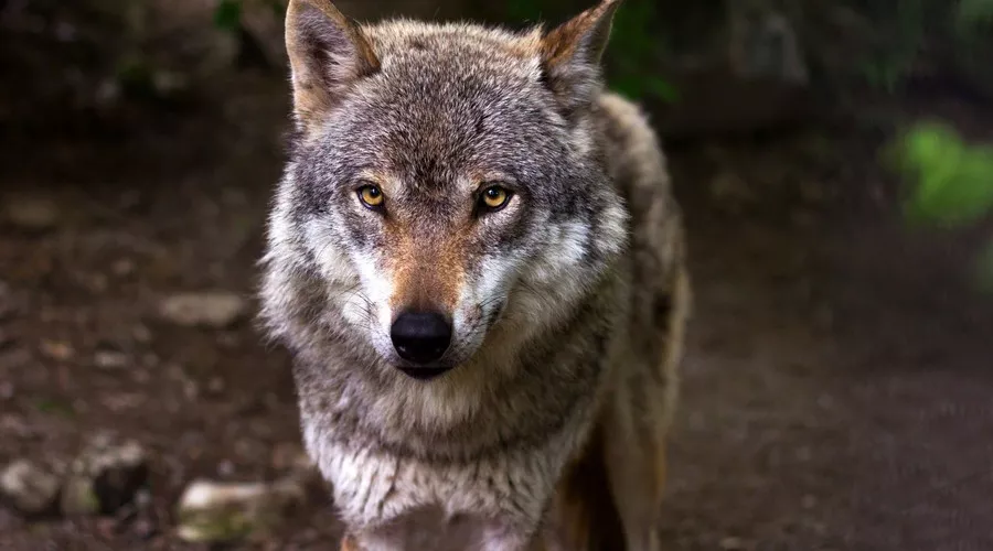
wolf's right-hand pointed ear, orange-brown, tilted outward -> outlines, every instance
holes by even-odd
[[[600,57],[620,2],[602,0],[542,39],[545,78],[567,111],[592,100],[600,86]]]

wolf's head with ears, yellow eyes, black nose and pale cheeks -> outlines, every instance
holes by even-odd
[[[290,1],[297,139],[263,290],[275,332],[427,379],[567,320],[626,239],[594,116],[617,6],[516,34],[361,26]]]

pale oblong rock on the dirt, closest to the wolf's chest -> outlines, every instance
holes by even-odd
[[[226,542],[271,532],[306,499],[292,480],[195,480],[180,498],[178,534],[191,542]]]

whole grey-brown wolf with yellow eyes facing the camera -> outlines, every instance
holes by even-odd
[[[343,550],[655,551],[690,311],[618,0],[545,30],[291,0],[260,317]]]

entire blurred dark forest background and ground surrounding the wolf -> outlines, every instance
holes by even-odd
[[[253,322],[284,8],[0,0],[0,549],[334,548]],[[993,549],[991,62],[990,0],[626,0],[696,288],[665,549]]]

